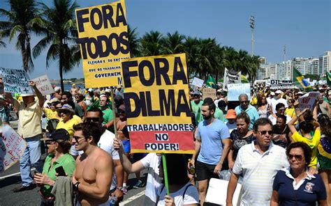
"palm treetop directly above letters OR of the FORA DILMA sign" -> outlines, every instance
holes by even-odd
[[[159,31],[150,31],[142,36],[141,55],[142,56],[157,56],[163,54],[163,35]]]

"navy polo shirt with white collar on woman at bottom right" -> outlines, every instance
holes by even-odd
[[[279,206],[281,205],[311,205],[316,201],[326,200],[326,191],[320,175],[309,175],[296,185],[289,168],[278,171],[274,177],[273,189],[279,193]]]

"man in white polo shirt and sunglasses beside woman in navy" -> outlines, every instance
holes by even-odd
[[[243,175],[241,205],[270,205],[274,176],[281,168],[288,167],[286,151],[272,143],[272,123],[267,118],[256,120],[253,125],[256,141],[240,148],[228,184],[226,205],[233,202],[233,193],[240,175]]]

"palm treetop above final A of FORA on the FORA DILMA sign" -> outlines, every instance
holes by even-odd
[[[184,40],[185,35],[179,34],[178,31],[175,33],[167,33],[164,38],[163,52],[165,54],[180,54],[184,52]]]

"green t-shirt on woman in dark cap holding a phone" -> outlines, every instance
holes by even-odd
[[[76,163],[75,159],[73,159],[73,156],[71,154],[67,153],[64,154],[62,157],[57,159],[57,161],[53,162],[52,168],[50,168],[50,164],[52,162],[52,159],[54,157],[54,154],[48,154],[46,159],[45,159],[45,164],[43,166],[43,174],[48,175],[51,180],[56,181],[57,180],[57,175],[55,168],[58,168],[62,166],[64,168],[64,171],[68,176],[71,176],[73,174],[73,171],[75,171]],[[45,184],[43,187],[41,187],[41,191],[45,196],[50,196],[52,191],[52,186]]]

